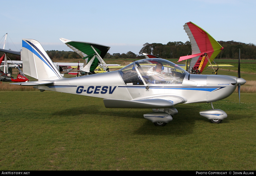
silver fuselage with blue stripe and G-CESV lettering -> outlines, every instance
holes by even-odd
[[[99,98],[140,100],[153,96],[178,96],[184,103],[208,103],[230,96],[237,77],[186,74],[182,84],[126,85],[119,71],[76,78],[53,80],[53,84],[35,86],[41,90],[72,93]]]

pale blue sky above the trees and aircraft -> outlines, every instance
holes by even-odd
[[[15,51],[22,49],[22,38],[38,40],[45,50],[70,51],[59,40],[66,38],[110,46],[111,54],[138,54],[146,42],[186,42],[183,25],[189,21],[217,41],[256,44],[256,1],[9,0],[1,7],[0,37],[8,33],[5,49]]]

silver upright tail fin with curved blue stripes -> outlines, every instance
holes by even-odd
[[[23,73],[42,80],[61,79],[62,76],[41,44],[33,39],[22,39]]]

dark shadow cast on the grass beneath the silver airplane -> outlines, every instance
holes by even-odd
[[[137,130],[134,131],[134,134],[161,135],[161,136],[162,135],[178,135],[178,136],[188,135],[188,134],[193,134],[194,127],[197,121],[204,121],[204,122],[208,121],[206,118],[201,117],[200,114],[198,113],[199,111],[201,111],[201,106],[191,107],[191,105],[183,104],[181,107],[179,107],[179,109],[180,109],[180,113],[175,115],[175,120],[173,120],[172,123],[166,125],[165,128],[153,128],[153,127],[151,128],[150,121],[145,120],[145,123],[143,123]],[[84,107],[69,108],[63,111],[56,111],[52,113],[52,115],[56,115],[56,116],[63,116],[63,114],[65,114],[64,116],[88,115],[88,118],[91,118],[92,115],[94,117],[98,116],[97,118],[107,115],[107,116],[112,116],[117,120],[119,119],[121,120],[124,118],[143,119],[141,117],[141,114],[146,113],[147,111],[147,109],[112,109],[112,110],[113,111],[111,111],[111,109],[108,109],[108,111],[106,111],[100,105],[89,105]],[[230,123],[234,120],[239,120],[242,117],[237,112],[228,113],[228,116],[230,117],[230,119],[223,122],[223,124]],[[244,118],[250,118],[250,117],[246,116]],[[212,126],[212,124],[208,124],[208,125]]]

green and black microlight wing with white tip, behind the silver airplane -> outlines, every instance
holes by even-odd
[[[110,49],[109,46],[90,42],[71,41],[64,38],[60,38],[60,40],[86,60],[87,65],[84,71],[93,73],[99,63],[106,65],[103,58]],[[106,67],[104,69],[106,71],[108,70]]]

